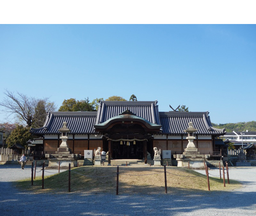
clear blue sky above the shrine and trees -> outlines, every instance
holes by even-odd
[[[186,105],[213,123],[255,121],[255,25],[0,25],[4,89]],[[4,113],[0,122],[4,122]]]

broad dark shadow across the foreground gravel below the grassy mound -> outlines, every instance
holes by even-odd
[[[3,182],[0,182],[0,184]],[[136,188],[135,188],[136,189]],[[155,188],[159,190],[159,188]],[[138,195],[113,193],[33,194],[17,189],[0,195],[1,215],[187,215],[212,209],[254,209],[256,192],[201,191],[168,188],[169,194]],[[113,188],[115,190],[115,188]],[[230,202],[230,201],[233,202]],[[237,201],[237,202],[236,202]],[[31,212],[30,212],[31,213]]]

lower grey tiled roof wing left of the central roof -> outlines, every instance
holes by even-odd
[[[71,134],[95,133],[93,124],[95,124],[97,112],[50,112],[46,117],[44,126],[41,128],[31,128],[33,134],[60,134],[58,129],[62,127],[63,122],[67,122],[67,127]]]

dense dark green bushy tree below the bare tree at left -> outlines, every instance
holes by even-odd
[[[27,141],[32,139],[33,136],[29,132],[28,127],[23,127],[22,125],[17,125],[16,128],[11,132],[10,136],[7,138],[8,147],[14,144],[20,144],[27,147]]]

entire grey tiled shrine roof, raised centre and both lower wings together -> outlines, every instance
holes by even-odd
[[[187,134],[184,132],[191,121],[198,129],[195,134],[224,135],[224,129],[212,127],[208,112],[159,112],[157,101],[100,101],[97,112],[50,112],[42,128],[33,129],[33,134],[60,134],[58,129],[64,121],[70,134],[95,133],[94,126],[107,122],[129,110],[151,124],[162,125],[165,134]]]

